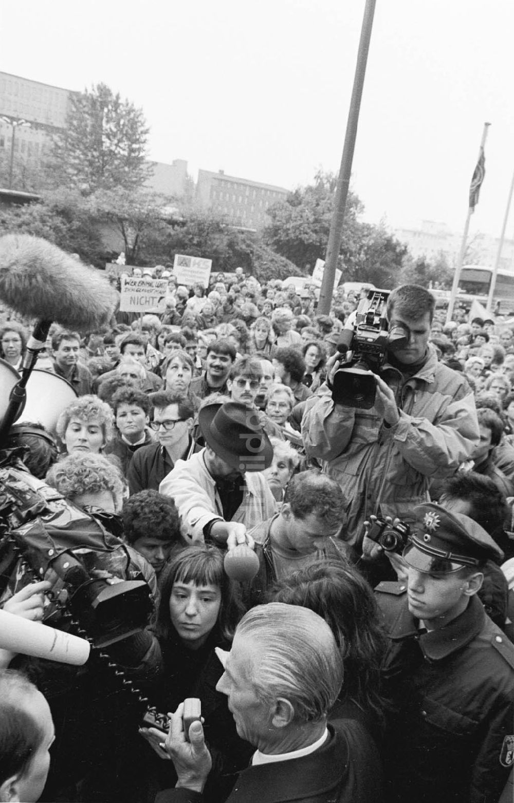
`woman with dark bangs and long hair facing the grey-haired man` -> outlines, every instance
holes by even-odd
[[[243,615],[235,583],[223,569],[218,547],[198,544],[179,552],[162,573],[161,603],[157,611],[157,638],[164,673],[153,702],[160,711],[175,711],[187,697],[202,702],[206,742],[213,759],[204,790],[206,801],[224,800],[235,773],[247,766],[255,748],[237,735],[226,695],[216,691],[223,674],[214,647],[230,650],[235,627]],[[167,754],[147,730],[143,736],[154,751]],[[161,789],[174,786],[173,764],[159,762]]]

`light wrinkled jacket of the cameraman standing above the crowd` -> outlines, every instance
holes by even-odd
[[[394,390],[400,418],[388,426],[374,408],[335,406],[327,385],[307,402],[302,437],[307,454],[324,462],[348,500],[343,537],[361,542],[372,513],[412,522],[434,478],[452,475],[479,441],[475,398],[463,375],[428,359],[413,377],[386,363],[381,377]]]

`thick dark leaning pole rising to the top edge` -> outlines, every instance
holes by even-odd
[[[357,66],[353,79],[352,98],[346,124],[345,145],[341,157],[341,167],[337,178],[336,199],[330,232],[328,234],[327,254],[324,263],[323,281],[321,283],[320,300],[318,302],[318,312],[320,315],[328,315],[332,302],[332,291],[336,278],[337,257],[341,248],[341,238],[343,235],[343,222],[345,220],[346,199],[352,173],[353,151],[355,149],[355,139],[357,137],[357,124],[361,109],[362,88],[366,63],[368,61],[369,39],[371,39],[371,29],[373,27],[373,14],[375,13],[376,0],[366,0],[364,18],[362,20],[361,41],[357,53]]]

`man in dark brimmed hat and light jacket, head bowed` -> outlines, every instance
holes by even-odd
[[[273,447],[258,411],[238,402],[206,403],[198,414],[206,446],[189,460],[177,460],[162,480],[182,526],[193,541],[253,545],[247,529],[275,514],[275,499],[263,477]]]

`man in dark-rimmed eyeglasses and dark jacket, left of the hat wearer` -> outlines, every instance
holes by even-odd
[[[150,395],[157,442],[141,446],[134,452],[127,471],[131,495],[138,491],[159,490],[161,480],[169,474],[178,459],[187,460],[198,446],[191,432],[194,408],[183,396],[160,390]]]

